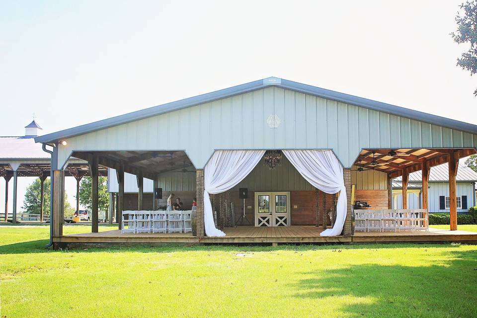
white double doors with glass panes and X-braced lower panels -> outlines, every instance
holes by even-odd
[[[289,227],[290,192],[255,192],[255,226]]]

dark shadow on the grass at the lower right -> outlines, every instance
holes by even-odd
[[[477,251],[444,256],[447,261],[432,266],[361,264],[302,272],[307,278],[293,286],[294,297],[350,300],[337,317],[477,317]]]

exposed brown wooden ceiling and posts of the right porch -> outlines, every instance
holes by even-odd
[[[451,230],[457,230],[456,175],[459,159],[476,154],[475,148],[462,149],[365,149],[355,164],[388,174],[388,204],[392,202],[391,180],[402,176],[402,208],[407,209],[407,184],[409,173],[422,170],[422,189],[427,189],[430,168],[449,163],[449,198]],[[428,209],[428,192],[422,191],[422,208]],[[388,206],[391,209],[391,206]]]

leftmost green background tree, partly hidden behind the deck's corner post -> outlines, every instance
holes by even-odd
[[[22,208],[26,213],[40,214],[40,178],[36,178],[27,188]],[[68,194],[65,192],[65,216],[71,216],[75,209],[68,202]],[[43,213],[50,214],[50,179],[47,178],[43,183]]]

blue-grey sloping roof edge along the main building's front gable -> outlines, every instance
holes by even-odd
[[[150,108],[146,108],[143,110],[138,110],[132,113],[127,113],[124,115],[111,117],[107,119],[103,119],[100,121],[96,121],[93,123],[81,125],[74,128],[65,129],[59,132],[39,136],[35,138],[35,141],[38,143],[52,143],[59,141],[61,139],[66,139],[82,134],[86,134],[89,132],[97,131],[100,129],[105,129],[113,126],[117,126],[120,124],[125,124],[131,121],[140,120],[144,118],[148,118],[155,115],[160,115],[163,113],[183,109],[186,107],[211,102],[221,98],[227,98],[239,94],[243,94],[246,92],[254,91],[257,89],[261,89],[267,86],[277,86],[284,89],[290,89],[322,98],[327,98],[331,100],[336,100],[339,102],[352,104],[356,106],[361,106],[377,111],[386,112],[389,114],[402,116],[414,120],[420,120],[422,122],[426,122],[429,124],[435,124],[442,127],[447,127],[451,129],[457,129],[463,132],[469,132],[472,134],[477,134],[477,125],[464,123],[461,121],[444,118],[436,115],[431,115],[423,112],[419,112],[412,109],[407,109],[391,104],[386,104],[378,101],[374,101],[371,99],[366,99],[362,97],[357,97],[353,95],[348,95],[336,91],[332,91],[329,89],[324,89],[316,86],[306,85],[298,82],[294,82],[291,80],[286,79],[279,79],[279,78],[267,78],[267,79],[260,79],[255,80],[249,83],[240,84],[237,86],[217,90],[214,92],[181,99],[178,101],[166,103],[159,106],[154,106]]]

